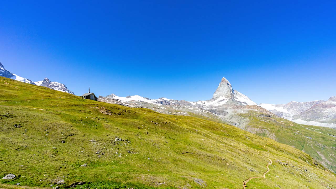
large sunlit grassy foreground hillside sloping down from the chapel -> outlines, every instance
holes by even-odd
[[[241,189],[268,158],[248,188],[336,187],[309,155],[234,126],[0,78],[0,175],[17,176],[0,187]]]

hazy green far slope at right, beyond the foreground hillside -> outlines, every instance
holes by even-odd
[[[284,118],[265,116],[253,111],[238,116],[250,120],[245,130],[293,146],[336,172],[336,129],[297,124]]]

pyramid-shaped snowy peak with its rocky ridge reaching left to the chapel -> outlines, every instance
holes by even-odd
[[[173,100],[168,98],[149,99],[138,95],[119,97],[115,94],[107,97],[99,97],[101,102],[119,104],[130,107],[149,108],[154,111],[174,115],[199,115],[224,122],[240,125],[237,121],[230,121],[230,116],[237,113],[247,113],[250,110],[269,113],[257,106],[255,102],[242,93],[234,90],[230,82],[224,77],[221,79],[213,98],[205,101],[189,102],[185,100]]]

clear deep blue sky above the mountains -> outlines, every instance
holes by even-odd
[[[336,96],[335,1],[1,1],[0,62],[76,95]]]

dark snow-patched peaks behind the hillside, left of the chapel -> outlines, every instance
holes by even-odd
[[[54,90],[67,92],[67,93],[75,95],[75,93],[69,90],[67,86],[65,86],[65,84],[58,83],[58,82],[52,82],[48,78],[44,78],[44,80],[42,81],[34,82],[30,79],[20,77],[18,75],[10,73],[8,70],[5,69],[5,67],[1,63],[0,63],[0,76],[14,79],[14,80],[21,81],[21,82],[25,82],[25,83],[29,83],[29,84],[33,84],[33,85],[48,87]]]

